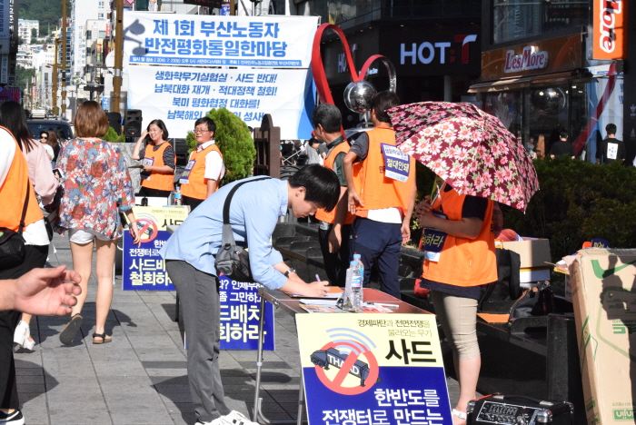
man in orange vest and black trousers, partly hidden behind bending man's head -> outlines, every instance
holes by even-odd
[[[323,165],[333,170],[340,181],[340,198],[336,207],[327,213],[316,212],[320,221],[318,241],[323,252],[324,271],[333,285],[344,286],[349,267],[349,233],[355,216],[347,211],[347,181],[344,178],[343,159],[349,152],[349,143],[344,140],[342,116],[333,104],[320,104],[313,110],[313,133],[315,138],[327,144],[327,156]],[[344,237],[343,237],[344,235]]]

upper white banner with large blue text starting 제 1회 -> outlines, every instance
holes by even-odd
[[[130,64],[308,68],[317,16],[124,14]]]

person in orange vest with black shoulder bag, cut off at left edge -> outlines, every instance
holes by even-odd
[[[0,127],[0,205],[0,227],[22,233],[25,241],[24,259],[1,268],[0,279],[17,279],[44,267],[49,243],[45,220],[29,180],[25,155],[4,127]],[[0,311],[0,423],[25,423],[19,409],[13,351],[20,315],[19,311]]]

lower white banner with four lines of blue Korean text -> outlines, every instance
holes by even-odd
[[[311,137],[313,80],[307,69],[131,66],[128,73],[129,107],[143,111],[144,126],[163,120],[171,137],[184,138],[212,108],[227,108],[250,127],[271,114],[281,138]]]

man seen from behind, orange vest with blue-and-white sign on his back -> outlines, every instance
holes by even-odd
[[[372,130],[360,133],[344,156],[349,212],[353,222],[349,252],[361,255],[363,286],[378,263],[380,288],[400,299],[400,248],[411,238],[415,203],[415,161],[395,147],[395,132],[386,110],[400,104],[393,92],[371,101]]]

